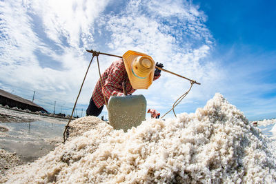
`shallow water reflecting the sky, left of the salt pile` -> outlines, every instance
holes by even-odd
[[[5,136],[0,136],[0,147],[16,152],[22,161],[34,161],[48,154],[62,140],[64,124],[34,121],[28,123],[0,123],[7,127]]]

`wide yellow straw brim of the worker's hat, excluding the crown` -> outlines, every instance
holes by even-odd
[[[155,65],[155,61],[152,57],[148,56],[147,54],[136,52],[132,50],[128,50],[123,55],[123,61],[125,64],[126,72],[128,73],[128,79],[130,80],[130,84],[132,85],[133,89],[148,89],[153,81],[153,76],[155,73],[155,68],[152,68],[152,71],[146,76],[144,79],[140,79],[132,72],[132,62],[139,56],[149,57],[151,61],[153,61],[153,65]]]

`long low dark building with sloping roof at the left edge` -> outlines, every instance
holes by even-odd
[[[8,105],[10,108],[17,107],[21,110],[28,109],[32,112],[37,112],[41,110],[47,112],[47,110],[41,108],[39,105],[33,103],[32,101],[23,99],[20,96],[11,94],[4,90],[0,90],[0,104],[3,106]]]

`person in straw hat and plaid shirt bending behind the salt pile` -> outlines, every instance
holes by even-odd
[[[156,65],[163,68],[161,63]],[[150,56],[129,50],[123,59],[114,61],[101,74],[101,81],[97,81],[86,115],[99,116],[110,96],[123,96],[123,82],[127,94],[132,94],[137,89],[148,89],[152,81],[159,78],[160,72],[161,70],[155,69],[155,61]]]

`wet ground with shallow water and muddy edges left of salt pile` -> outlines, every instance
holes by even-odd
[[[0,107],[0,175],[14,165],[48,154],[62,143],[67,122],[68,119]]]

